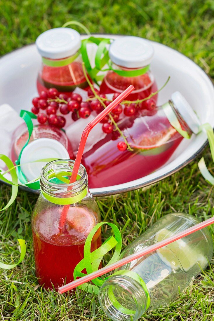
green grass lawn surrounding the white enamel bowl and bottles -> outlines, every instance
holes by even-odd
[[[213,13],[212,0],[0,0],[0,55],[34,42],[44,30],[75,19],[92,33],[131,34],[164,43],[214,77]],[[212,169],[208,149],[203,156]],[[10,192],[10,187],[0,185],[1,207]],[[38,286],[30,225],[36,198],[20,191],[16,202],[0,212],[1,259],[10,263],[18,258],[17,238],[25,238],[27,244],[22,264],[13,270],[0,270],[0,320],[108,320],[91,294],[68,297]],[[197,160],[147,190],[100,199],[98,203],[103,219],[114,222],[120,230],[127,223],[123,247],[166,213],[190,213],[201,219],[214,214],[213,187],[201,177]],[[214,228],[210,230],[214,236]],[[103,240],[106,237],[103,233]],[[141,320],[213,320],[213,278],[214,259],[176,302],[146,313]]]

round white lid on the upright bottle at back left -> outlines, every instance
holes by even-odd
[[[49,29],[36,39],[42,57],[62,59],[74,55],[81,47],[80,34],[71,28]]]

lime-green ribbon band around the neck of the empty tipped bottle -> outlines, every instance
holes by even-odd
[[[147,306],[146,306],[146,310],[149,308],[150,306],[150,296],[149,296],[149,292],[148,292],[148,289],[147,289],[147,286],[146,286],[146,283],[143,281],[143,279],[139,276],[138,273],[136,272],[133,272],[133,271],[130,271],[130,270],[119,270],[115,273],[113,273],[112,275],[108,276],[107,278],[105,278],[105,280],[108,280],[109,278],[111,278],[113,275],[126,275],[128,276],[130,279],[134,279],[135,281],[137,281],[143,288],[145,294],[146,294],[146,297],[147,297]],[[111,300],[111,303],[113,304],[113,306],[118,310],[120,311],[121,313],[124,313],[124,314],[127,314],[127,315],[133,315],[136,313],[135,310],[130,310],[124,306],[122,306],[118,300],[115,298],[115,295],[113,293],[113,286],[111,285],[109,287],[109,290],[108,290],[108,296],[109,296],[109,299]]]

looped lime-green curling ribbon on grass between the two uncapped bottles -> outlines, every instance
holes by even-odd
[[[91,252],[91,245],[92,245],[91,243],[92,243],[93,237],[103,224],[108,224],[112,228],[114,232],[114,236],[110,236],[101,245],[101,247]],[[86,269],[87,274],[97,271],[99,269],[99,265],[102,261],[103,256],[106,253],[108,253],[110,250],[112,250],[114,247],[115,247],[114,254],[107,265],[115,263],[119,259],[120,251],[122,247],[122,238],[121,238],[120,230],[117,228],[115,224],[108,223],[108,222],[101,222],[101,223],[98,223],[96,226],[94,226],[94,228],[88,234],[88,237],[85,241],[84,258],[76,265],[74,269],[74,280],[76,280],[77,277],[86,275],[85,273],[82,273],[84,269]],[[84,283],[80,285],[78,288],[83,291],[89,291],[91,293],[98,294],[100,290],[100,286],[103,284],[104,281],[105,279],[103,280],[101,279],[101,277],[98,277],[92,280],[94,285]]]

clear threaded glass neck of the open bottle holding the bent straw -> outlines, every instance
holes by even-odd
[[[41,171],[40,189],[49,196],[73,197],[80,195],[88,186],[85,167],[80,164],[77,180],[69,183],[74,160],[54,160],[46,164]]]

